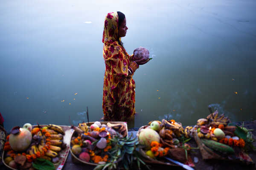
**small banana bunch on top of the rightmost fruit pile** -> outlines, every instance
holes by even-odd
[[[214,113],[209,114],[207,116],[207,119],[210,122],[210,125],[212,125],[213,127],[218,127],[218,125],[227,126],[227,124],[230,122],[230,119],[228,117],[225,117],[224,113],[219,116],[218,110],[216,110]]]

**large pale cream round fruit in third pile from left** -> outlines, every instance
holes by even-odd
[[[139,134],[140,144],[145,145],[146,149],[149,150],[150,144],[152,141],[160,142],[160,136],[155,130],[151,128],[145,128],[140,130],[140,134]]]

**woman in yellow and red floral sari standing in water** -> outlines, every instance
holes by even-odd
[[[148,60],[134,60],[125,51],[121,37],[128,27],[122,12],[110,12],[105,17],[102,42],[105,60],[102,108],[104,121],[134,122],[135,82],[132,79],[139,65]]]

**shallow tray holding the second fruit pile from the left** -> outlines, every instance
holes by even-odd
[[[88,123],[86,123],[87,124],[87,126],[89,126],[90,127],[90,125],[92,125],[94,122],[88,122]],[[101,124],[104,124],[104,125],[107,125],[107,123],[111,123],[111,124],[118,124],[118,123],[121,123],[121,124],[124,124],[125,125],[125,127],[126,127],[126,132],[127,132],[127,135],[128,135],[128,128],[127,128],[127,124],[125,123],[125,122],[100,122]],[[74,163],[83,163],[83,164],[90,164],[90,165],[93,165],[93,166],[97,166],[97,165],[99,165],[99,164],[95,164],[95,163],[91,163],[91,162],[86,162],[86,161],[82,161],[82,160],[80,160],[78,157],[76,157],[76,155],[72,152],[72,150],[71,150],[71,147],[70,147],[70,142],[71,142],[71,138],[73,137],[73,135],[74,135],[74,131],[75,130],[73,130],[73,132],[72,132],[72,134],[71,134],[71,137],[70,137],[70,141],[69,141],[69,148],[70,148],[70,153],[71,153],[71,157],[72,157],[72,161],[74,162]],[[124,136],[125,137],[125,136]]]

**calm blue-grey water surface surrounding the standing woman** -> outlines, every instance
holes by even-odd
[[[98,2],[98,1],[97,1]],[[140,66],[135,127],[172,118],[194,125],[208,105],[232,121],[256,119],[256,1],[2,0],[0,112],[5,127],[102,117],[105,15],[122,11]]]

